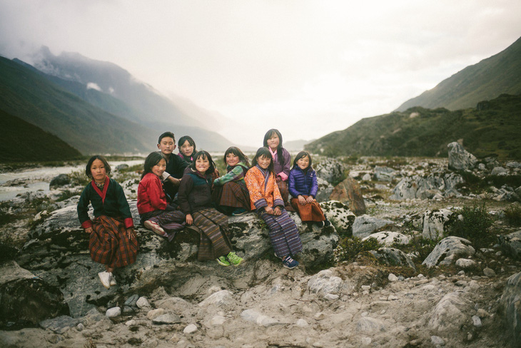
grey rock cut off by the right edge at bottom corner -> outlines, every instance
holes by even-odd
[[[521,345],[521,272],[508,278],[505,289],[500,299],[500,312],[502,312],[507,333],[513,339],[512,347]]]

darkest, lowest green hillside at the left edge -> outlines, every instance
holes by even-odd
[[[81,153],[55,135],[0,111],[0,163],[72,160]]]

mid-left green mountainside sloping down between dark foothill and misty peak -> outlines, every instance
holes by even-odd
[[[58,136],[84,155],[146,153],[157,142],[157,131],[96,108],[3,57],[0,110]]]

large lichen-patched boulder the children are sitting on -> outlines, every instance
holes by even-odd
[[[129,200],[134,223],[138,226],[136,200]],[[328,264],[338,243],[335,227],[320,229],[314,224],[303,224],[296,213],[295,220],[303,240],[303,252],[298,255],[300,269],[317,269]],[[140,250],[133,265],[116,270],[117,287],[106,290],[98,280],[103,270],[91,260],[88,235],[81,229],[76,207],[56,210],[49,218],[31,230],[31,240],[24,245],[16,261],[52,287],[59,287],[71,317],[80,317],[93,307],[106,305],[116,294],[147,293],[164,287],[183,287],[187,282],[218,277],[223,283],[247,288],[268,277],[265,262],[275,262],[268,237],[268,227],[255,213],[229,219],[230,238],[237,254],[246,262],[240,267],[222,267],[215,261],[197,262],[198,232],[186,228],[177,233],[173,242],[159,237],[142,227],[136,228]],[[257,265],[263,262],[263,267]],[[197,277],[194,277],[194,273]]]

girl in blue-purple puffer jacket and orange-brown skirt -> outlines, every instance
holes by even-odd
[[[306,151],[300,151],[293,160],[293,168],[290,170],[288,190],[291,206],[297,210],[300,220],[317,222],[319,227],[329,226],[331,222],[318,205],[315,197],[318,192],[318,181],[315,170],[311,167],[313,160]]]

